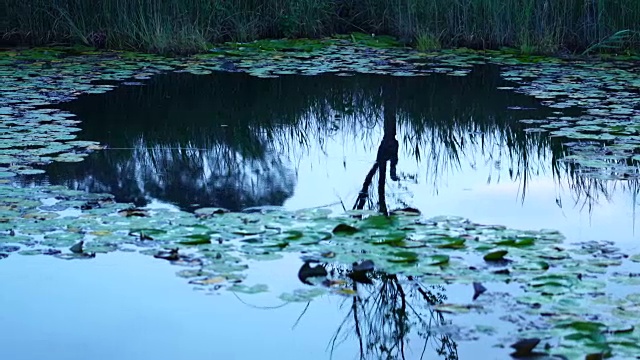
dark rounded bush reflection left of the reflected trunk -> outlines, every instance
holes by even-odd
[[[203,149],[180,144],[149,148],[143,141],[124,157],[114,152],[118,150],[107,150],[84,163],[66,166],[65,185],[111,193],[119,201],[138,206],[146,205],[149,199],[161,199],[183,208],[213,204],[238,211],[282,204],[295,183],[286,163],[272,153],[252,158],[220,145]],[[50,169],[49,178],[59,175],[58,168]],[[68,177],[70,171],[77,176]]]

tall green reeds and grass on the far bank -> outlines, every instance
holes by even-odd
[[[0,14],[5,42],[155,52],[350,31],[422,49],[640,47],[638,0],[4,0]]]

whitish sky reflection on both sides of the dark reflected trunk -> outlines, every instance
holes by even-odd
[[[375,160],[376,149],[365,151],[363,144],[345,146],[341,139],[325,140],[324,145],[322,150],[312,147],[297,159],[298,183],[294,195],[285,203],[287,208],[334,204],[331,208],[341,212],[342,206],[335,204],[341,200],[348,209],[353,206]],[[400,188],[388,180],[387,197],[393,198],[395,191],[425,216],[456,215],[474,222],[519,229],[556,229],[570,242],[612,240],[629,246],[636,238],[633,195],[620,188],[622,183],[617,184],[615,190],[611,190],[613,183],[608,183],[609,200],[602,194],[592,193],[597,201],[590,209],[588,205],[583,206],[584,194],[576,203],[579,194],[571,189],[570,180],[564,174],[560,183],[553,178],[549,153],[543,153],[545,158],[530,155],[529,161],[534,165],[530,167],[522,201],[522,180],[509,178],[510,161],[505,154],[501,157],[495,150],[484,155],[478,149],[467,151],[459,165],[449,163],[435,175],[434,162],[424,158],[417,162],[414,157],[403,154],[402,143],[400,147],[398,172],[417,175],[417,184],[405,181]],[[500,160],[499,169],[495,166],[496,160]],[[372,186],[376,185],[374,181]]]

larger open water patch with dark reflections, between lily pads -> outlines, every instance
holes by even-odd
[[[611,229],[622,241],[635,237],[637,184],[581,176],[557,162],[562,139],[527,133],[521,122],[579,110],[544,107],[499,71],[159,75],[61,105],[82,120],[80,139],[109,148],[28,182],[138,206],[412,206],[576,240]]]

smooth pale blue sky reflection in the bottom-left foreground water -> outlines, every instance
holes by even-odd
[[[304,302],[280,307],[279,294],[304,286],[296,277],[299,266],[296,256],[253,263],[250,282],[269,282],[271,293],[236,298],[226,291],[193,291],[174,275],[180,267],[137,254],[90,261],[13,255],[0,262],[3,359],[327,360],[351,300],[323,296],[308,307]],[[460,294],[453,301],[471,296],[468,286],[453,290]],[[470,326],[487,321],[484,315],[456,319]],[[335,346],[333,359],[357,358],[350,321],[348,316],[347,337],[340,337],[346,341]],[[411,334],[407,359],[417,359],[424,341]],[[484,344],[459,343],[460,358],[499,351]],[[431,351],[429,345],[425,358],[439,358]]]

